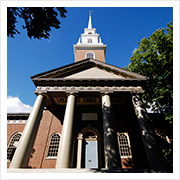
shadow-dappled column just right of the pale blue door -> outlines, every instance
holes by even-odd
[[[108,94],[102,96],[105,168],[121,168],[115,121]]]

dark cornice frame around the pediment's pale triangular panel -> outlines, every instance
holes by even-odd
[[[109,79],[103,79],[103,78],[96,78],[96,79],[90,79],[90,78],[78,78],[78,79],[65,79],[64,77],[67,74],[75,74],[77,72],[82,71],[82,69],[84,68],[92,68],[92,67],[96,67],[98,69],[101,69],[102,71],[106,71],[109,72],[111,74],[115,74],[117,75],[117,78],[109,78]],[[123,79],[119,79],[119,77],[123,77]],[[33,80],[33,82],[35,83],[35,85],[38,84],[38,82],[82,82],[82,81],[89,81],[89,82],[102,82],[102,81],[106,81],[106,82],[127,82],[127,81],[144,81],[147,80],[146,76],[134,73],[134,72],[130,72],[127,71],[125,69],[119,68],[117,66],[114,65],[110,65],[95,59],[85,59],[82,61],[78,61],[66,66],[62,66],[50,71],[46,71],[37,75],[34,75],[31,77],[31,79]]]

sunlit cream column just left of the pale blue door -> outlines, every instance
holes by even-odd
[[[73,93],[71,93],[67,99],[67,105],[63,121],[62,136],[60,140],[58,157],[56,161],[56,168],[70,167],[75,99],[76,97]]]

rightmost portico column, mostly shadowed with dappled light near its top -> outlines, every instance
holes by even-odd
[[[162,168],[164,167],[162,152],[156,139],[151,121],[147,115],[146,109],[143,106],[143,102],[138,95],[132,96],[132,102],[150,167],[154,169]]]

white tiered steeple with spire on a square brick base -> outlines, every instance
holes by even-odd
[[[84,29],[84,33],[74,45],[75,62],[92,58],[105,62],[106,46],[102,43],[96,28],[92,28],[91,12],[89,13],[88,28]]]

